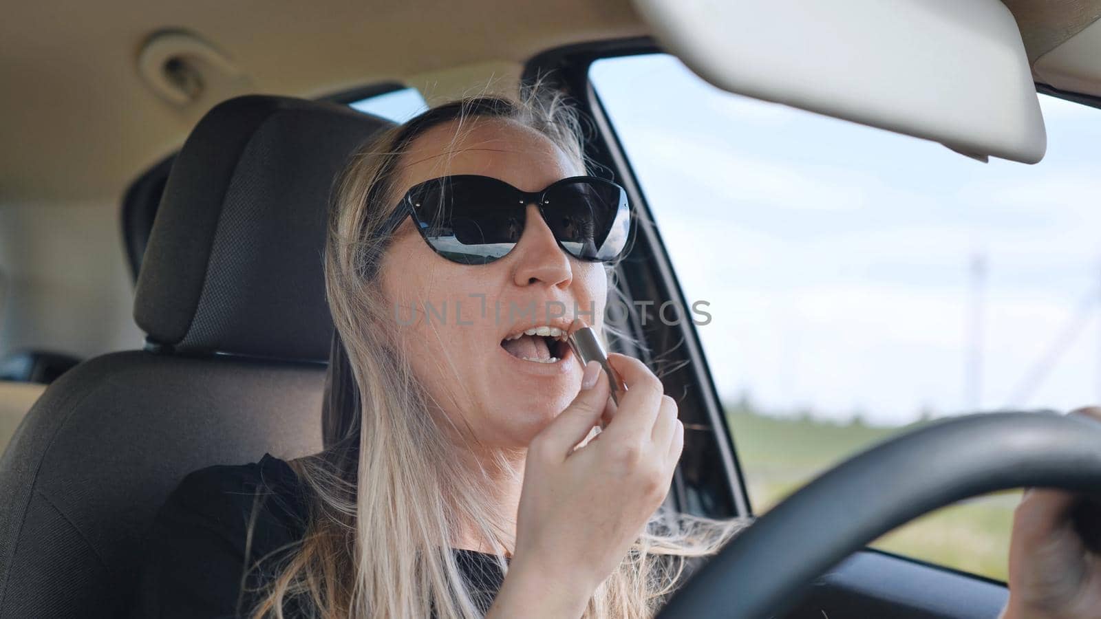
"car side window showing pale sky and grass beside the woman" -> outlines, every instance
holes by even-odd
[[[1048,153],[942,145],[740,97],[676,58],[590,78],[689,303],[756,513],[903,428],[1101,400],[1101,112],[1040,96]],[[1020,492],[874,545],[1004,579]]]

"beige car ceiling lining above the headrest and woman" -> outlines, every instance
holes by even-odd
[[[1101,14],[1101,0],[1006,0],[1031,59]],[[519,76],[568,43],[647,34],[629,0],[26,2],[7,11],[0,84],[0,200],[117,199],[172,152],[216,98],[159,98],[137,57],[159,31],[220,50],[252,91],[320,96],[399,80],[450,95],[457,79]],[[455,67],[469,72],[434,75]],[[442,79],[443,77],[443,79]],[[475,82],[477,83],[477,82]],[[469,85],[469,84],[468,84]]]

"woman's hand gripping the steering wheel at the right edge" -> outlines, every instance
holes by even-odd
[[[1101,420],[1099,408],[1075,413]],[[1010,601],[1002,619],[1101,617],[1098,504],[1095,499],[1061,490],[1025,491],[1013,514]],[[1083,531],[1088,540],[1082,539]]]

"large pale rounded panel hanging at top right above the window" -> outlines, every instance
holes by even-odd
[[[634,0],[669,52],[719,88],[1035,163],[1032,67],[999,0]]]

